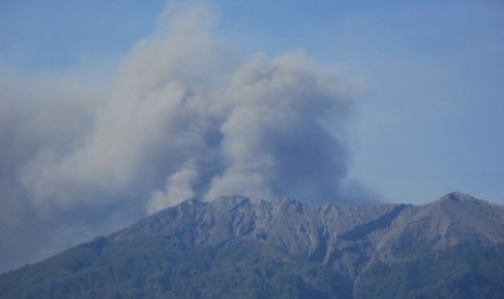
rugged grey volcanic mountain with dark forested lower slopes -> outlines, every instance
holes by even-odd
[[[188,200],[0,276],[0,298],[503,298],[504,207]]]

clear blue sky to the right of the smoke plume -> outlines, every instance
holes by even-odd
[[[365,81],[352,176],[391,202],[504,200],[502,2],[294,2],[240,10],[229,26],[254,28],[238,44],[301,49]]]

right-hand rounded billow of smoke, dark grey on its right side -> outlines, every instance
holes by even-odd
[[[170,140],[183,135],[189,146],[151,210],[192,196],[339,197],[347,155],[326,126],[344,118],[349,103],[331,74],[299,55],[256,57],[207,94],[186,92]]]

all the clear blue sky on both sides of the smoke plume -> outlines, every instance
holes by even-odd
[[[348,128],[351,177],[388,202],[451,191],[504,203],[504,2],[212,1],[244,55],[303,51],[366,86]],[[0,64],[102,76],[165,1],[0,1]],[[92,75],[90,75],[92,74]]]

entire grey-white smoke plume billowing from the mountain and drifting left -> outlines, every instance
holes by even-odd
[[[105,87],[0,74],[0,256],[14,234],[60,249],[191,197],[351,202],[353,88],[300,53],[241,61],[215,20],[170,16]]]

